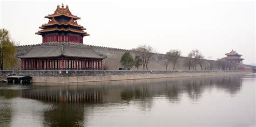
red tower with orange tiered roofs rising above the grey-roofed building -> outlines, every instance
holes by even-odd
[[[42,30],[36,32],[36,34],[43,37],[42,43],[79,43],[83,44],[84,36],[90,36],[84,30],[83,26],[77,24],[77,16],[72,15],[69,10],[69,6],[62,4],[62,8],[57,6],[56,11],[52,15],[45,16],[49,19],[47,24],[43,24],[39,27]]]

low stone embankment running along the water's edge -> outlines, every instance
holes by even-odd
[[[238,70],[18,70],[17,75],[32,76],[32,82],[38,83],[76,83],[250,73]]]

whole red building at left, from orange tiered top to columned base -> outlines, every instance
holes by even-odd
[[[22,60],[21,69],[102,69],[106,58],[92,48],[83,45],[83,37],[89,36],[79,17],[72,15],[68,5],[57,6],[47,24],[36,32],[42,36],[42,44],[31,46],[17,55]],[[29,46],[27,46],[29,47]],[[25,52],[26,51],[26,52]]]

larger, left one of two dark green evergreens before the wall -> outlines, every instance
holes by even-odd
[[[130,52],[125,52],[120,60],[120,63],[125,68],[131,68],[134,65],[134,60]]]

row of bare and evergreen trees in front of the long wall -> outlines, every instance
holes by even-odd
[[[175,67],[178,64],[181,64],[181,51],[180,50],[170,50],[165,54],[160,54],[149,45],[140,45],[137,48],[133,48],[132,52],[136,53],[136,57],[133,59],[130,52],[125,52],[121,59],[120,63],[123,67],[132,68],[136,67],[137,69],[143,66],[143,69],[149,69],[148,64],[153,59],[153,55],[158,55],[160,62],[163,63],[165,69],[169,67],[172,63],[172,69],[175,70]],[[217,59],[216,61],[211,60],[211,57],[208,57],[208,60],[204,59],[203,53],[199,50],[192,50],[187,54],[186,58],[183,58],[183,65],[187,67],[188,70],[196,70],[199,66],[201,70],[208,69],[212,70],[213,68],[219,68],[219,70],[231,70],[237,69],[238,64],[232,61],[227,61],[224,59]]]

